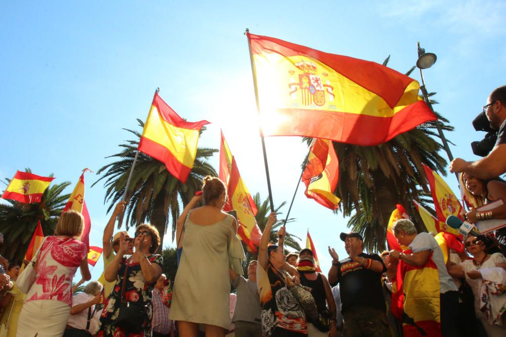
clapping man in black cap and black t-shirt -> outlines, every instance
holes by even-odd
[[[340,283],[341,312],[345,336],[390,336],[381,277],[387,270],[377,254],[366,254],[359,233],[341,233],[348,257],[339,260],[335,250],[328,247],[332,267],[328,281]]]

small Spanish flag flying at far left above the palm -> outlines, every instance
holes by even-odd
[[[54,179],[54,177],[42,177],[33,173],[17,171],[2,198],[25,204],[40,203],[44,191]]]

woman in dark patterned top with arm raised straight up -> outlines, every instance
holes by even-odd
[[[308,334],[308,323],[304,310],[287,287],[291,280],[282,271],[287,265],[283,247],[268,245],[276,221],[276,214],[271,213],[258,252],[257,285],[262,329],[266,337],[302,337]]]

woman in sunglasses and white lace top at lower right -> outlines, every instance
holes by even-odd
[[[466,260],[460,264],[448,266],[448,273],[454,277],[466,278],[466,282],[473,290],[476,316],[480,319],[483,327],[485,328],[487,336],[504,336],[506,335],[504,315],[502,315],[501,318],[492,318],[492,321],[494,319],[497,320],[495,324],[492,324],[490,322],[490,319],[487,319],[485,312],[481,310],[482,306],[480,302],[483,295],[483,278],[481,271],[485,268],[502,268],[502,272],[506,273],[506,258],[504,258],[504,255],[501,253],[488,255],[485,252],[485,246],[483,243],[479,242],[476,236],[473,235],[469,235],[466,238],[464,246],[466,247],[469,254],[473,256],[473,259]],[[497,305],[499,305],[501,308],[504,308],[504,306],[506,306],[506,293],[491,296],[494,297],[491,298],[490,301],[492,312],[498,309],[496,307]]]

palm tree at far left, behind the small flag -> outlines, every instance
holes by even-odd
[[[25,171],[31,172],[29,168]],[[0,250],[2,256],[10,262],[21,263],[39,220],[44,235],[53,234],[70,197],[70,194],[63,194],[69,185],[70,182],[65,181],[49,186],[40,203],[24,204],[6,200],[8,204],[0,204],[0,232],[4,234],[4,245]]]

